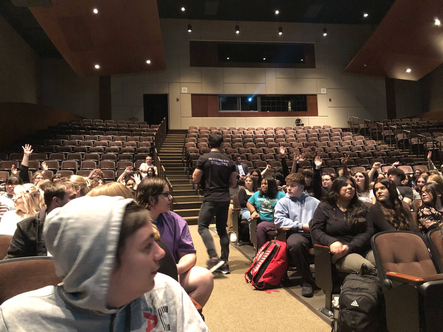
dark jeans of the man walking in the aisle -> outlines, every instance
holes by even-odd
[[[209,224],[215,216],[215,228],[220,238],[221,256],[225,262],[229,257],[229,237],[226,232],[226,221],[228,220],[229,201],[225,202],[203,202],[198,213],[198,234],[202,237],[208,251],[209,258],[218,257],[215,251],[214,240],[209,232]]]

